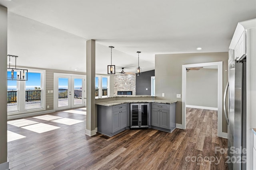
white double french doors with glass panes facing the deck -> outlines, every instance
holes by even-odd
[[[84,107],[86,104],[85,76],[54,74],[54,109]]]

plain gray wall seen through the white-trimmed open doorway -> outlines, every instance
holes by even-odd
[[[186,72],[186,105],[218,107],[218,69]]]

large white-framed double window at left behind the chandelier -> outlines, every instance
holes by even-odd
[[[10,72],[7,72],[10,74]],[[14,76],[16,72],[14,72]],[[45,110],[45,70],[28,70],[27,81],[7,81],[7,112],[28,113],[35,109]],[[14,113],[15,112],[15,113]]]

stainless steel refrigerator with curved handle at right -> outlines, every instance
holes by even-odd
[[[246,59],[232,61],[228,67],[228,84],[224,93],[228,169],[246,170]]]

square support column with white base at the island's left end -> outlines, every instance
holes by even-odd
[[[95,40],[86,41],[86,131],[89,136],[96,135],[95,107]]]

